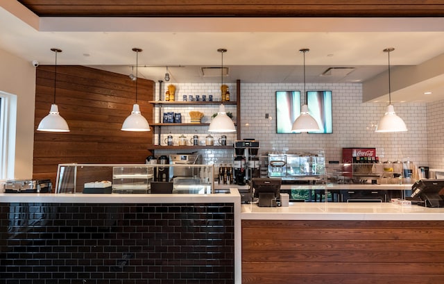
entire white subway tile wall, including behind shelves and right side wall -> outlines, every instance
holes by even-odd
[[[168,85],[168,84],[167,84]],[[180,83],[176,85],[176,100],[181,101],[185,94],[194,97],[199,94],[213,94],[214,100],[220,100],[220,84]],[[235,84],[230,87],[231,100],[236,98]],[[164,88],[165,85],[162,87]],[[156,100],[159,100],[159,84],[156,84]],[[375,147],[381,161],[411,160],[418,166],[444,168],[444,146],[442,143],[444,120],[444,101],[436,103],[396,103],[396,113],[404,119],[409,131],[404,133],[375,133],[375,126],[384,115],[387,103],[363,103],[360,83],[307,83],[306,90],[331,90],[333,101],[332,134],[278,134],[276,133],[275,92],[278,90],[299,90],[302,83],[241,83],[241,138],[254,138],[260,142],[261,153],[282,149],[323,149],[325,160],[342,158],[344,147]],[[162,92],[164,94],[164,92]],[[162,97],[163,99],[163,97]],[[303,100],[305,98],[302,98]],[[227,111],[236,115],[235,106],[225,106]],[[187,122],[190,110],[204,112],[203,122],[210,122],[210,117],[217,112],[216,106],[173,107],[168,111],[181,112],[182,121]],[[164,110],[163,110],[164,111]],[[185,114],[184,114],[185,112]],[[268,119],[266,119],[268,114]],[[158,122],[159,113],[155,112]],[[184,116],[185,115],[185,116]],[[152,120],[150,120],[151,122]],[[177,137],[185,134],[191,138],[197,134],[204,140],[207,126],[185,126],[162,128],[161,142],[166,135]],[[157,135],[155,135],[157,137]],[[177,136],[177,137],[176,137]],[[213,135],[217,140],[220,135]],[[229,143],[236,140],[235,134],[228,134]],[[157,142],[157,138],[155,138]],[[156,151],[160,153],[159,151]],[[200,151],[205,163],[231,162],[232,151]],[[225,158],[226,157],[226,158]]]

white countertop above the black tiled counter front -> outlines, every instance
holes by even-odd
[[[239,202],[239,191],[219,194],[0,193],[1,203],[221,203]]]

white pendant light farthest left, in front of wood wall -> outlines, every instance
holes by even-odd
[[[37,131],[47,132],[69,132],[69,127],[66,120],[60,116],[58,112],[58,106],[56,105],[56,82],[57,82],[57,53],[62,52],[61,49],[51,49],[56,53],[56,65],[54,67],[54,99],[49,110],[49,115],[43,117],[40,121]]]

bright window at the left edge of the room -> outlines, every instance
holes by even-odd
[[[0,180],[14,177],[17,96],[0,92]]]

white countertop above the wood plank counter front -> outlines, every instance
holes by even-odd
[[[290,202],[289,207],[243,204],[241,219],[263,220],[444,220],[444,208],[374,202]]]

